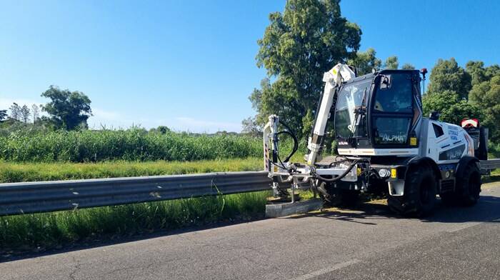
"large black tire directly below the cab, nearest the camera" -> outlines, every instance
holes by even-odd
[[[436,206],[436,177],[430,166],[411,166],[406,174],[403,196],[389,196],[387,204],[397,214],[423,217]]]

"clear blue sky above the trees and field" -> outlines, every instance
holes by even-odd
[[[265,76],[256,40],[285,1],[0,1],[0,109],[54,84],[87,94],[89,125],[239,131]],[[361,50],[431,69],[500,62],[500,1],[342,1]]]

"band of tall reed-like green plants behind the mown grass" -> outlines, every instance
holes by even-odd
[[[260,138],[230,134],[192,135],[127,129],[18,131],[0,136],[0,159],[6,161],[196,161],[241,159],[261,154]]]

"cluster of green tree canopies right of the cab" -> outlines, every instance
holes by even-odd
[[[477,118],[489,128],[490,139],[500,141],[500,66],[485,67],[469,61],[465,69],[455,59],[439,59],[431,71],[429,90],[423,98],[424,113],[441,113],[441,121],[459,124]]]

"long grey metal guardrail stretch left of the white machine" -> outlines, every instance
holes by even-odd
[[[0,184],[0,216],[270,189],[267,172]]]

